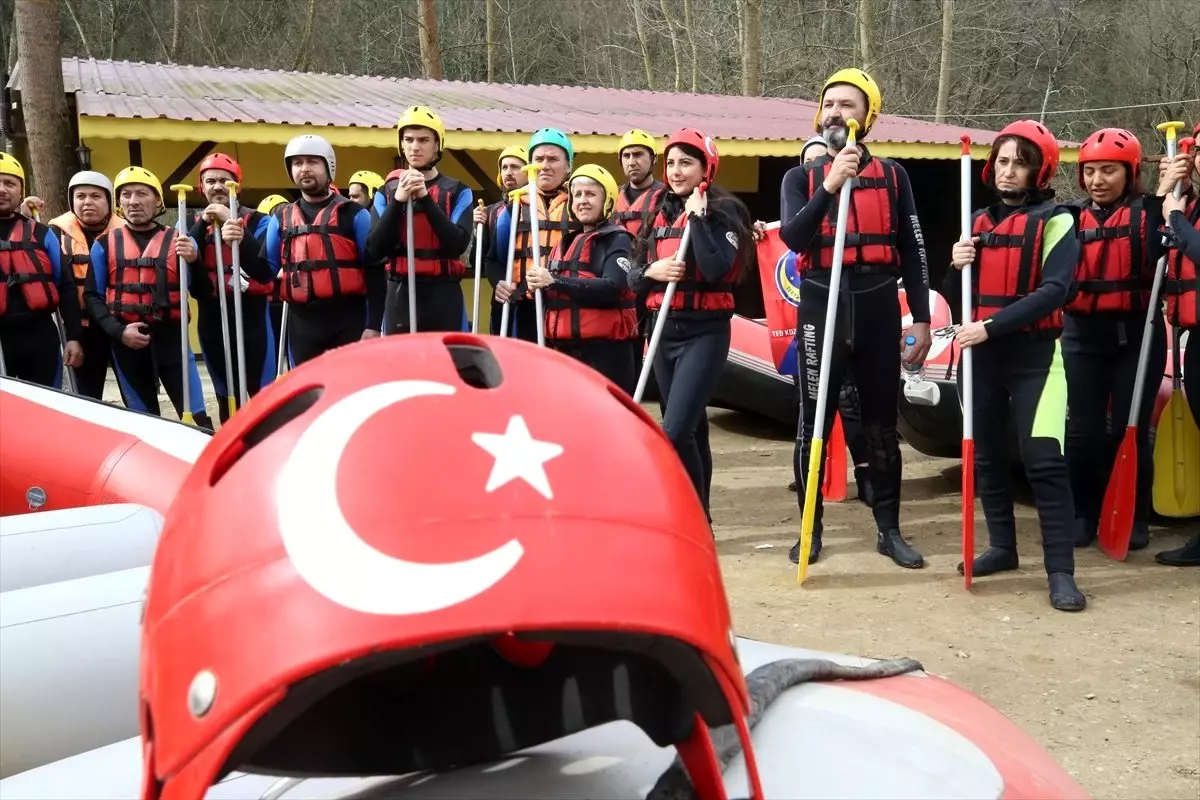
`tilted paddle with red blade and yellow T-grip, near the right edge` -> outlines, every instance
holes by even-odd
[[[1168,158],[1175,158],[1175,144],[1181,127],[1183,127],[1183,122],[1178,121],[1163,122],[1158,126],[1159,131],[1166,133]],[[1182,191],[1182,186],[1175,186],[1176,197]],[[1165,270],[1166,255],[1163,255],[1154,269],[1154,283],[1150,289],[1146,325],[1141,332],[1141,353],[1138,356],[1138,373],[1133,381],[1133,399],[1129,402],[1129,420],[1126,423],[1124,438],[1117,449],[1112,473],[1109,475],[1109,485],[1104,491],[1104,505],[1100,509],[1097,539],[1100,542],[1100,549],[1117,561],[1123,561],[1129,554],[1133,515],[1138,505],[1138,415],[1141,411],[1141,393],[1146,385],[1146,367],[1150,363],[1150,341],[1154,329],[1154,317],[1158,314],[1158,297]]]

